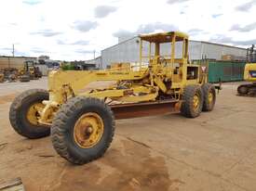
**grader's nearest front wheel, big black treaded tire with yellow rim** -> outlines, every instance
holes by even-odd
[[[74,164],[100,158],[115,133],[111,108],[92,97],[74,97],[62,105],[51,128],[51,140],[57,153]]]

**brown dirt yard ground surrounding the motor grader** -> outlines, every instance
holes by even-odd
[[[49,137],[28,140],[8,121],[12,99],[47,79],[0,84],[0,182],[21,177],[36,190],[256,190],[256,98],[225,83],[212,112],[116,121],[103,158],[83,166],[61,159]]]

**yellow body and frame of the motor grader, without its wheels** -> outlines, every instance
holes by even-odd
[[[141,35],[140,37],[140,62],[139,65],[133,67],[133,69],[138,68],[137,71],[130,70],[130,68],[123,68],[123,70],[115,68],[92,71],[52,71],[48,76],[49,100],[44,102],[46,107],[42,111],[39,122],[49,124],[52,121],[53,111],[72,96],[92,96],[101,99],[108,97],[119,102],[138,103],[155,101],[159,96],[158,92],[161,91],[163,94],[172,96],[172,102],[178,103],[185,85],[205,83],[199,82],[198,66],[188,65],[188,36],[186,34],[165,32]],[[149,43],[149,53],[146,57],[142,55],[143,41]],[[177,42],[182,42],[181,58],[175,58]],[[160,45],[163,43],[171,45],[169,59],[160,55]],[[155,56],[152,56],[152,44],[155,44]],[[148,68],[143,67],[143,58],[149,60]],[[159,59],[162,63],[159,63]],[[177,63],[179,68],[175,69],[174,65]],[[192,80],[187,78],[188,68],[196,69],[195,78]],[[174,70],[177,70],[176,74]],[[117,86],[103,90],[83,91],[88,83],[96,81],[118,81],[119,84],[124,82],[129,84],[126,88],[119,88],[117,83]],[[152,103],[150,105],[153,106]],[[130,107],[127,104],[122,106]],[[177,105],[177,107],[179,106]]]

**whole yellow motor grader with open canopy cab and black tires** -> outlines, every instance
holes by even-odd
[[[51,71],[47,91],[28,90],[13,101],[9,120],[14,130],[28,138],[51,134],[62,158],[84,164],[100,158],[110,146],[115,120],[173,111],[195,118],[214,108],[215,86],[207,83],[200,66],[188,63],[188,35],[161,32],[140,39],[137,64]],[[163,46],[169,47],[166,55]],[[96,81],[116,83],[88,90],[88,83]]]

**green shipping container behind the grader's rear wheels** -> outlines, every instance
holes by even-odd
[[[209,60],[209,83],[242,81],[245,65],[245,62]]]

